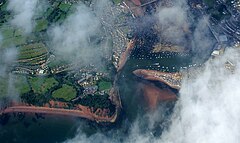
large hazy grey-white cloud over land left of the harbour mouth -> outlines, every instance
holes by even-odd
[[[103,48],[106,45],[93,40],[100,40],[100,29],[100,21],[93,11],[80,3],[76,12],[67,17],[62,25],[51,28],[48,33],[57,56],[81,65],[91,63],[101,66]]]

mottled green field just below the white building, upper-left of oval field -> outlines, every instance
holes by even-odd
[[[53,77],[30,77],[29,82],[34,93],[38,94],[45,94],[49,89],[58,85],[58,81],[56,81]]]

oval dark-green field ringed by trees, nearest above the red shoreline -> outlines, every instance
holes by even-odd
[[[62,88],[59,88],[58,90],[54,91],[52,96],[55,99],[64,99],[66,101],[70,101],[74,97],[76,97],[77,91],[69,85],[64,84]]]

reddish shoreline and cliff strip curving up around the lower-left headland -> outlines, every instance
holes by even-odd
[[[63,116],[72,116],[72,117],[80,117],[85,118],[91,121],[96,121],[97,123],[114,123],[117,120],[117,117],[120,113],[121,109],[121,101],[120,96],[118,95],[119,92],[117,91],[118,88],[112,88],[110,92],[110,100],[115,105],[115,112],[113,115],[108,116],[107,113],[109,112],[108,109],[96,109],[94,111],[93,108],[83,106],[80,104],[75,105],[74,109],[66,109],[66,103],[59,102],[59,101],[50,101],[49,103],[45,104],[44,106],[33,106],[27,105],[24,103],[12,103],[9,107],[6,107],[0,111],[0,115],[8,114],[8,113],[15,113],[15,112],[23,112],[23,113],[44,113],[50,115],[63,115]],[[56,107],[52,107],[52,106]]]

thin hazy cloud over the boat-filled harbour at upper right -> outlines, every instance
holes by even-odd
[[[170,7],[160,6],[156,13],[160,38],[197,53],[197,60],[206,60],[216,43],[207,25],[208,18],[193,20],[186,0],[172,0],[172,3]]]

